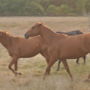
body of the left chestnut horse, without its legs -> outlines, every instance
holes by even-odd
[[[4,40],[1,40],[4,39]],[[2,42],[4,41],[4,42]],[[6,38],[0,37],[0,42],[7,48],[10,56],[17,56],[18,58],[32,57],[40,52],[40,37],[32,37],[31,39],[24,39],[20,37],[13,37],[8,35]]]

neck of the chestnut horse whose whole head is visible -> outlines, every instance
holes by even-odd
[[[56,36],[56,34],[52,32],[50,29],[48,29],[47,27],[44,27],[44,28],[42,27],[40,29],[40,35],[42,39],[47,43],[51,43],[54,37]]]

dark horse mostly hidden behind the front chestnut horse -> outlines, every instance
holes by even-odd
[[[83,32],[81,32],[80,30],[74,30],[74,31],[70,31],[70,32],[56,32],[56,33],[72,35],[72,36],[83,34]],[[83,58],[84,64],[85,64],[86,63],[86,56],[82,56],[82,58]],[[60,69],[60,63],[61,63],[61,61],[59,60],[57,71],[59,71],[59,69]],[[77,58],[76,63],[79,64],[79,58]]]

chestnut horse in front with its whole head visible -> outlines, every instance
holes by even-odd
[[[53,32],[47,25],[36,23],[25,33],[25,38],[38,35],[48,45],[48,65],[44,78],[49,75],[50,69],[57,59],[61,59],[69,76],[73,79],[66,59],[79,58],[90,53],[90,33],[61,38],[61,34]]]

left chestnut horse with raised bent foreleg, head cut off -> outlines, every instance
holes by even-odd
[[[12,57],[8,68],[15,75],[22,74],[17,72],[19,58],[33,57],[39,53],[41,53],[44,58],[47,58],[47,45],[41,45],[42,39],[40,36],[25,39],[22,37],[15,37],[5,31],[0,31],[0,43],[7,49],[9,55]],[[13,65],[14,69],[12,68]]]

